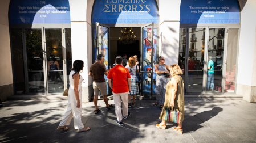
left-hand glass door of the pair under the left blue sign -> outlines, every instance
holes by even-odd
[[[42,28],[23,29],[26,93],[46,93],[42,37]]]

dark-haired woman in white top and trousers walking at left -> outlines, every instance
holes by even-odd
[[[82,81],[83,78],[80,76],[80,70],[83,70],[84,62],[81,60],[75,60],[73,68],[70,72],[70,89],[68,90],[68,107],[62,121],[60,121],[58,130],[67,130],[70,125],[72,117],[74,117],[75,129],[80,131],[88,131],[90,127],[84,127],[82,123]]]

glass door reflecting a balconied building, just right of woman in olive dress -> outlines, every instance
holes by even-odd
[[[185,80],[185,91],[188,94],[200,94],[204,90],[205,28],[189,28],[187,32],[183,33],[182,37],[184,40],[186,39],[182,41],[186,43],[185,78],[187,80]],[[182,44],[183,48],[184,45]],[[181,64],[182,62],[179,65]]]

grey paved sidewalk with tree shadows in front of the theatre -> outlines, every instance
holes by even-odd
[[[113,100],[109,100],[113,104]],[[56,128],[67,100],[9,100],[0,108],[0,142],[256,142],[256,104],[243,100],[185,100],[184,133],[158,129],[159,106],[154,100],[136,100],[131,116],[116,123],[115,107],[94,114],[94,103],[83,103],[82,121],[90,131],[76,132],[73,121],[67,131]]]

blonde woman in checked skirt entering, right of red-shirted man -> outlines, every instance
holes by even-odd
[[[125,68],[129,70],[129,73],[131,75],[131,92],[129,93],[129,96],[128,96],[128,108],[130,108],[131,96],[132,96],[132,105],[134,106],[136,94],[139,94],[139,86],[136,81],[136,72],[137,73],[140,73],[140,72],[139,72],[139,67],[136,65],[135,57],[131,56],[129,58],[128,65],[126,65]]]

